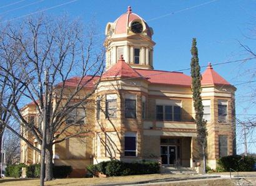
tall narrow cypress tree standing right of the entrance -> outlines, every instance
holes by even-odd
[[[200,65],[198,58],[198,50],[197,50],[197,41],[195,38],[192,40],[191,47],[191,77],[192,77],[192,95],[193,102],[195,108],[195,123],[197,125],[197,142],[200,146],[200,157],[203,160],[203,174],[205,174],[206,170],[206,158],[205,158],[205,149],[207,146],[207,129],[206,129],[206,121],[203,119],[204,116],[204,106],[202,104],[201,97],[201,74],[200,74]]]

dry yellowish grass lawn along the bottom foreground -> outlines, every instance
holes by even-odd
[[[151,174],[151,175],[129,175],[122,177],[107,177],[107,178],[83,178],[83,179],[56,179],[49,182],[46,182],[45,185],[104,185],[104,184],[120,184],[124,182],[139,182],[145,180],[155,180],[155,179],[175,179],[181,177],[191,177],[192,175],[175,175],[175,174]],[[194,175],[193,177],[198,177],[199,175]],[[212,184],[220,183],[220,185],[229,186],[229,179],[208,179],[208,180],[197,180],[193,182],[183,181],[183,182],[175,182],[175,183],[165,183],[165,185],[192,185],[192,183],[196,185],[204,185],[206,183],[212,182]],[[200,183],[200,184],[199,184]],[[12,179],[12,178],[4,178],[0,179],[0,185],[39,185],[39,179]],[[160,185],[160,184],[154,184]],[[207,184],[210,185],[210,184]],[[230,185],[231,186],[231,185]]]

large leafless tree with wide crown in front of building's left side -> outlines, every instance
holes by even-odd
[[[66,17],[28,19],[19,26],[9,26],[5,35],[21,50],[15,73],[0,67],[11,77],[13,109],[8,110],[39,144],[42,144],[42,121],[46,111],[45,180],[52,180],[52,146],[90,131],[81,122],[85,111],[80,112],[80,116],[76,113],[86,108],[97,88],[104,70],[105,52],[99,47],[101,42],[94,36],[92,27],[84,27],[81,22],[69,21]],[[44,70],[49,72],[46,81]],[[21,99],[17,93],[21,93]],[[28,121],[22,113],[24,103],[29,102],[36,108],[38,122]],[[24,139],[12,128],[10,130]],[[67,136],[67,131],[72,134]],[[24,141],[40,152],[30,141]]]

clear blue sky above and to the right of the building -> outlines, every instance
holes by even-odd
[[[58,6],[71,0],[16,0],[1,1],[1,22],[21,17],[14,21],[22,21],[24,15],[47,9],[46,14],[69,14],[71,17],[81,17],[84,22],[94,19],[97,24],[99,37],[104,37],[107,22],[114,22],[117,17],[126,12],[127,6],[139,14],[150,27],[154,29],[154,68],[157,70],[180,70],[190,66],[190,47],[193,37],[197,38],[200,65],[208,62],[219,63],[229,60],[239,60],[248,57],[241,49],[237,40],[255,49],[254,40],[247,39],[255,28],[256,1],[72,1],[72,3]],[[205,3],[205,4],[204,4]],[[31,4],[29,6],[29,4]],[[194,7],[200,4],[202,6]],[[8,6],[9,5],[9,6]],[[26,6],[26,7],[22,7]],[[193,8],[194,7],[194,8]],[[186,8],[190,8],[184,10]],[[16,10],[15,10],[16,9]],[[184,11],[180,11],[184,10]],[[174,14],[170,14],[176,12]],[[169,16],[160,17],[170,14]],[[152,20],[151,20],[152,19]],[[254,33],[256,34],[256,32]],[[214,69],[232,84],[255,80],[245,70],[255,70],[255,60],[245,63],[229,63],[215,66]],[[205,68],[202,68],[204,71]],[[256,71],[255,71],[256,72]],[[185,71],[189,75],[189,71]],[[237,86],[236,109],[239,118],[256,114],[255,106],[246,98],[250,95],[250,86],[247,83]],[[240,133],[239,133],[240,134]],[[256,136],[256,135],[255,135]],[[254,141],[254,139],[249,139]],[[242,146],[238,146],[242,152]],[[255,143],[249,144],[249,151],[256,152]]]

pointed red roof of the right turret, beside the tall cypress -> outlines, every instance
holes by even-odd
[[[202,85],[230,85],[230,83],[222,78],[219,73],[215,72],[209,63],[207,69],[202,74]]]

